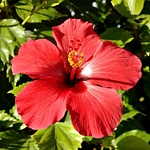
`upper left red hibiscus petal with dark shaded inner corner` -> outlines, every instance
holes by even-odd
[[[56,46],[46,39],[29,40],[12,60],[13,74],[23,73],[32,78],[63,76],[63,63]]]

